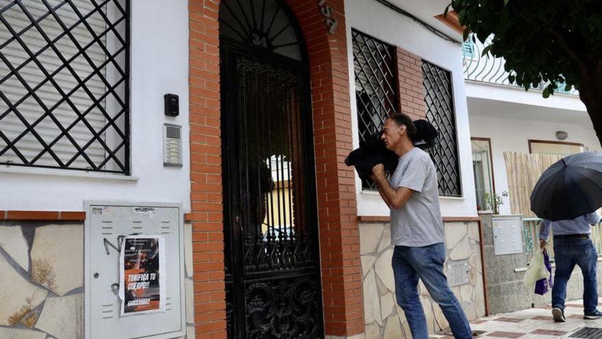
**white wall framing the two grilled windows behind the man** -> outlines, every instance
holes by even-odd
[[[415,2],[412,6],[421,4]],[[441,9],[443,12],[445,6]],[[412,12],[412,8],[404,10]],[[436,15],[440,13],[432,13]],[[373,0],[346,0],[345,20],[348,36],[348,60],[350,74],[350,93],[355,92],[351,29],[374,36],[391,45],[395,45],[419,55],[447,71],[451,71],[456,112],[456,129],[458,132],[458,153],[460,156],[460,172],[462,173],[462,197],[440,199],[443,216],[476,216],[476,199],[472,170],[469,117],[466,95],[464,92],[464,75],[462,73],[462,55],[460,45],[439,38],[412,19],[407,18]],[[458,38],[458,40],[461,40]],[[355,95],[351,95],[352,128],[354,148],[359,146],[358,122]],[[358,199],[358,215],[388,216],[389,208],[384,204],[378,192],[362,192],[361,180],[356,175],[356,194]]]

